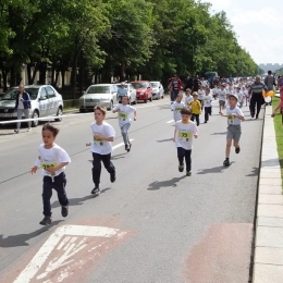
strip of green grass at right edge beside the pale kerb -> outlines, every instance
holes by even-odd
[[[279,97],[273,97],[272,108],[274,109],[280,101]],[[273,118],[275,135],[276,135],[276,144],[278,144],[278,153],[279,153],[279,162],[281,167],[281,177],[283,181],[283,124],[282,116],[280,111],[278,111],[276,115]]]

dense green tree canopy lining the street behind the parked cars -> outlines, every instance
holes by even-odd
[[[78,79],[89,83],[94,74],[103,82],[207,71],[255,75],[258,66],[238,45],[225,12],[212,14],[210,8],[194,0],[2,0],[4,87],[21,81],[23,65],[29,84],[35,72],[42,83],[47,67],[53,74],[72,70],[74,90]],[[56,76],[51,83],[57,85]]]

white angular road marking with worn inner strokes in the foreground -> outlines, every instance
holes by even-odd
[[[63,236],[66,238],[58,246],[57,249],[62,249],[64,245],[67,245],[63,248],[65,253],[60,258],[54,258],[51,260],[46,269],[46,271],[38,276],[38,279],[42,279],[47,276],[47,274],[59,267],[65,266],[65,260],[67,260],[71,256],[77,254],[79,250],[86,247],[85,237],[113,237],[120,230],[103,227],[103,226],[83,226],[83,225],[63,225],[58,227],[53,234],[49,236],[44,246],[38,250],[38,253],[34,256],[32,261],[26,266],[26,268],[21,272],[21,274],[16,278],[14,283],[28,283],[36,275],[38,270],[44,266],[48,256],[52,253],[56,246],[59,244],[60,239]],[[71,237],[70,237],[71,236]],[[76,241],[75,236],[84,236],[84,239],[81,241],[77,245],[74,244]]]

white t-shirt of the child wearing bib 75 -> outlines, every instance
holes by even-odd
[[[182,121],[177,121],[175,124],[176,137],[175,146],[183,147],[184,149],[193,149],[194,135],[198,135],[197,126],[194,122],[189,121],[188,124],[184,124]]]

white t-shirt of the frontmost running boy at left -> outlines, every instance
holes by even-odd
[[[57,144],[52,148],[45,148],[45,144],[41,144],[38,148],[39,157],[35,162],[35,165],[42,169],[42,176],[51,176],[45,169],[49,167],[57,167],[62,162],[71,162],[70,156],[66,151],[58,146]],[[54,172],[58,176],[60,173],[64,172],[65,167]]]

